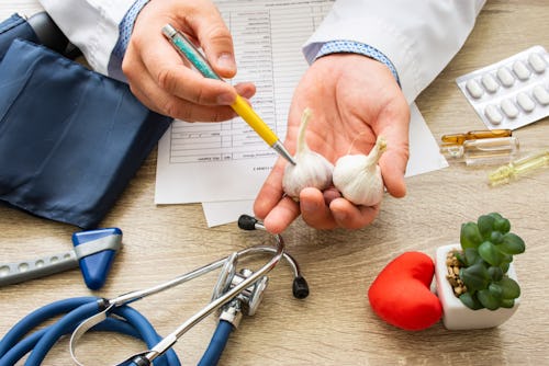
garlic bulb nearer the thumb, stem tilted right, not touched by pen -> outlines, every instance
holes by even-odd
[[[355,205],[373,206],[383,198],[383,179],[378,165],[386,149],[386,141],[378,137],[368,156],[347,155],[339,158],[334,168],[334,185]]]

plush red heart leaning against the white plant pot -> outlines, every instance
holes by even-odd
[[[430,291],[435,263],[427,254],[405,252],[376,277],[368,290],[373,311],[388,323],[408,331],[435,324],[442,316]]]

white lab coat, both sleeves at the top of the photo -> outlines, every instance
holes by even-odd
[[[40,0],[90,66],[108,73],[119,23],[134,0]],[[456,55],[485,0],[336,0],[303,47],[312,61],[323,43],[351,39],[391,59],[412,103]]]

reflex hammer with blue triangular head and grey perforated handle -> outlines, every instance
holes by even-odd
[[[101,288],[116,252],[122,247],[122,230],[105,228],[75,232],[74,250],[31,261],[0,263],[0,287],[80,267],[90,289]]]

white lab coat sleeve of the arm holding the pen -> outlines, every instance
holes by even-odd
[[[98,72],[108,75],[119,24],[134,0],[40,0],[59,28]]]

